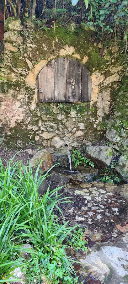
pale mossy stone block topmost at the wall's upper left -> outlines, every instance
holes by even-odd
[[[15,17],[9,17],[6,19],[4,24],[4,30],[18,30],[21,31],[23,29],[23,26],[21,24],[20,19],[16,19]]]

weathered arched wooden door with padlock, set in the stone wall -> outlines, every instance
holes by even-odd
[[[88,102],[91,76],[76,59],[60,57],[48,62],[38,75],[40,102]]]

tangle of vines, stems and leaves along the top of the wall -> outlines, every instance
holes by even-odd
[[[62,25],[72,20],[98,32],[101,38],[109,33],[123,35],[125,40],[128,37],[128,0],[0,0],[0,8],[5,18],[34,17],[53,21],[56,15]]]

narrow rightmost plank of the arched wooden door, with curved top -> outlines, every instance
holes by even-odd
[[[81,93],[82,101],[89,102],[91,97],[91,76],[90,72],[84,65],[82,65]]]

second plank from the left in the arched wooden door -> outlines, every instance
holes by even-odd
[[[67,87],[67,58],[61,57],[54,60],[55,74],[55,101],[66,102]]]

